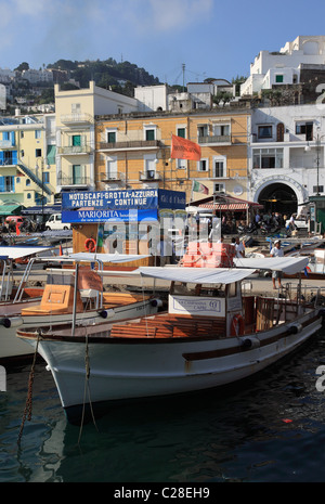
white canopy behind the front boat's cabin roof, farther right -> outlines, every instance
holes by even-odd
[[[245,257],[234,259],[236,268],[282,271],[286,274],[296,274],[303,271],[308,262],[308,257]]]

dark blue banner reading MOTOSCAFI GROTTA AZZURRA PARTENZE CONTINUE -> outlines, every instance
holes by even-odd
[[[185,209],[185,193],[158,189],[63,193],[62,210]],[[72,222],[72,221],[70,221]]]

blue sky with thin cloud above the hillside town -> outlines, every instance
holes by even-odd
[[[168,83],[249,75],[261,50],[325,35],[325,2],[0,0],[0,67],[115,59]]]

